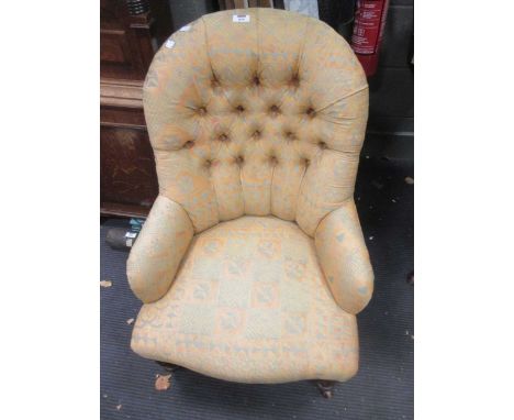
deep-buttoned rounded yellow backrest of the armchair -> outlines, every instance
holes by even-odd
[[[312,236],[353,197],[368,85],[319,20],[273,9],[200,18],[154,57],[144,109],[159,192],[195,232],[272,214]]]

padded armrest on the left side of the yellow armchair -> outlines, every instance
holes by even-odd
[[[148,303],[169,290],[192,236],[182,207],[158,196],[126,262],[128,284],[137,298]]]

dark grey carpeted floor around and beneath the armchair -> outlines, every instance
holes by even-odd
[[[375,296],[358,316],[360,369],[323,399],[310,382],[244,385],[180,369],[171,386],[155,390],[155,362],[130,349],[139,301],[125,276],[127,253],[105,243],[124,219],[104,219],[100,226],[101,280],[101,418],[102,419],[412,419],[414,362],[413,270],[414,186],[410,161],[366,158],[356,185],[356,203],[376,275]]]

